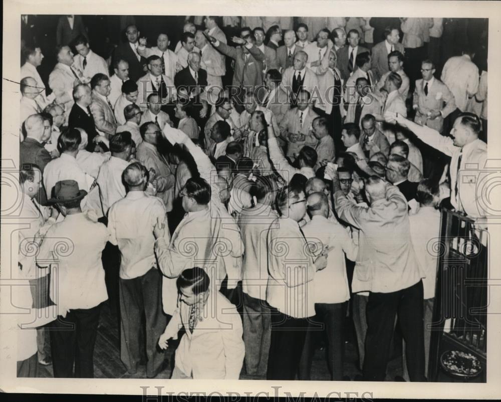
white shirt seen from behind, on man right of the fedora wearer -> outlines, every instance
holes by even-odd
[[[122,260],[120,278],[134,279],[156,267],[153,227],[157,219],[166,222],[162,200],[143,191],[129,191],[108,212],[110,243],[118,246]],[[167,241],[169,231],[165,231]]]

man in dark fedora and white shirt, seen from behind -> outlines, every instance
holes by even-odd
[[[57,206],[64,220],[47,231],[37,261],[40,267],[51,266],[50,298],[58,306],[51,331],[52,360],[54,377],[60,378],[94,376],[99,313],[108,299],[101,254],[110,234],[82,213],[85,195],[75,180],[56,183],[48,203]]]

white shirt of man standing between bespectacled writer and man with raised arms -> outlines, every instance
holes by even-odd
[[[329,247],[327,267],[315,272],[313,279],[315,303],[342,303],[350,299],[345,254],[354,261],[358,248],[348,232],[337,222],[321,215],[314,215],[303,226],[303,232],[314,258],[320,256],[324,246]]]

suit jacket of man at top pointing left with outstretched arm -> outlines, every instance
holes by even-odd
[[[256,46],[249,49],[250,55],[246,62],[241,47],[234,48],[219,42],[216,49],[232,59],[235,59],[235,71],[233,73],[232,85],[255,87],[263,84],[263,61],[265,60],[265,55]]]

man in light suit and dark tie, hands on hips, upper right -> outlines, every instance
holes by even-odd
[[[423,78],[416,81],[412,107],[416,110],[416,123],[441,132],[443,119],[456,109],[456,103],[447,85],[435,78],[434,73],[433,62],[424,60],[421,63]]]

